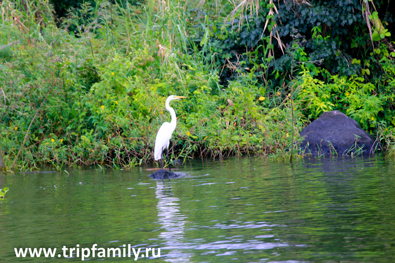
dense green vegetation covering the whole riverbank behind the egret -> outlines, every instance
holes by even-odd
[[[394,153],[389,1],[56,2],[0,3],[6,169],[153,162],[171,94],[172,160],[297,154],[330,110]]]

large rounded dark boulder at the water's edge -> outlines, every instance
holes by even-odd
[[[378,143],[371,135],[362,130],[355,120],[339,111],[322,113],[303,129],[300,136],[305,137],[301,144],[302,152],[311,152],[313,155],[343,155],[350,149],[350,153],[356,152],[355,148],[362,148],[364,154],[372,154],[378,148]]]

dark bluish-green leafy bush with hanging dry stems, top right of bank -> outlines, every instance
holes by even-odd
[[[273,11],[274,5],[276,12]],[[240,13],[241,9],[235,9],[236,15],[230,16],[233,21],[222,23],[214,18],[207,22],[212,22],[210,27],[201,27],[191,40],[198,45],[206,38],[207,33],[208,36],[212,36],[205,40],[210,42],[210,52],[207,53],[206,61],[213,60],[212,54],[216,54],[214,67],[221,69],[224,85],[227,85],[228,80],[237,77],[236,68],[241,72],[248,72],[248,69],[252,68],[251,61],[246,59],[246,50],[254,52],[259,50],[261,45],[267,45],[273,51],[258,51],[255,56],[257,61],[266,59],[268,54],[276,58],[270,63],[268,70],[270,81],[266,81],[267,78],[259,78],[261,82],[269,84],[269,90],[282,85],[283,78],[290,80],[289,73],[298,67],[295,65],[295,59],[298,58],[294,52],[284,51],[294,49],[295,44],[303,49],[309,61],[332,75],[359,75],[361,70],[363,72],[365,61],[371,59],[369,52],[380,46],[378,41],[385,38],[388,43],[393,40],[393,36],[385,28],[391,27],[392,24],[389,23],[394,22],[394,14],[388,11],[388,5],[389,2],[381,0],[369,2],[372,10],[376,6],[382,10],[381,13],[367,13],[373,32],[372,41],[375,41],[373,48],[369,46],[369,30],[362,14],[362,11],[369,9],[366,9],[364,4],[361,5],[359,0],[260,2],[256,14],[251,12],[245,15]],[[240,17],[237,19],[237,16]],[[378,35],[380,36],[377,37]],[[359,60],[360,63],[354,63],[355,60]],[[383,73],[381,69],[375,72],[380,75]]]

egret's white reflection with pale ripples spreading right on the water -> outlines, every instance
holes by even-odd
[[[204,185],[204,184],[203,184]],[[161,242],[161,249],[168,250],[169,252],[164,255],[167,257],[166,262],[190,262],[189,258],[192,253],[184,253],[184,251],[190,250],[208,250],[200,255],[212,254],[219,250],[230,250],[224,253],[215,253],[215,256],[230,256],[236,253],[236,250],[262,250],[262,249],[273,249],[276,247],[287,246],[286,243],[279,242],[264,242],[265,238],[274,237],[274,235],[258,235],[253,239],[248,240],[248,242],[243,242],[241,236],[232,236],[228,240],[214,241],[209,243],[204,243],[203,238],[191,240],[192,242],[183,242],[184,238],[184,228],[186,223],[186,217],[180,214],[179,198],[174,197],[172,192],[172,187],[170,181],[164,183],[163,181],[157,182],[156,195],[158,200],[158,220],[161,231],[159,234],[159,239]],[[280,212],[280,211],[277,211]],[[217,221],[217,220],[215,220]],[[215,222],[214,221],[214,222]],[[271,230],[270,227],[278,226],[273,224],[267,224],[266,222],[238,222],[239,224],[220,224],[216,223],[212,226],[207,226],[208,228],[220,228],[220,229],[251,229],[258,228],[257,230],[268,231]],[[195,228],[197,229],[197,228]],[[189,230],[192,230],[190,228]],[[232,251],[235,250],[235,251]],[[237,260],[235,258],[234,260]]]

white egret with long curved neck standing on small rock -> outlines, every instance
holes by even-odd
[[[174,96],[171,95],[166,99],[166,110],[170,112],[171,114],[171,121],[169,122],[163,122],[163,124],[160,126],[157,134],[157,138],[155,139],[155,150],[154,150],[154,159],[158,161],[160,159],[160,162],[162,164],[162,169],[163,169],[163,160],[162,160],[162,153],[165,148],[167,148],[167,160],[169,160],[169,144],[170,144],[170,139],[171,135],[173,134],[174,129],[176,128],[177,125],[177,116],[176,113],[174,112],[174,109],[170,107],[169,103],[172,100],[178,100],[178,99],[184,99],[187,97],[184,96]],[[169,170],[170,169],[170,164],[169,164]]]

